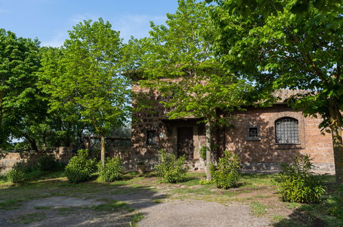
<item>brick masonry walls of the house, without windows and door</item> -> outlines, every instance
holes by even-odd
[[[177,127],[193,127],[193,160],[189,164],[194,169],[203,169],[203,160],[199,157],[199,150],[205,144],[205,130],[196,119],[184,118],[167,120],[166,109],[159,103],[161,96],[156,91],[142,89],[133,85],[133,92],[142,100],[149,100],[149,104],[140,111],[133,113],[132,126],[132,155],[135,160],[146,160],[150,168],[156,164],[157,151],[166,149],[168,152],[177,151]],[[136,99],[133,107],[137,107]],[[233,128],[225,128],[217,132],[217,142],[221,151],[214,152],[214,156],[221,155],[222,150],[228,149],[239,154],[243,167],[251,170],[278,170],[280,163],[294,160],[294,155],[309,154],[318,170],[334,173],[333,145],[331,134],[324,136],[318,125],[321,119],[305,118],[300,111],[278,103],[273,107],[254,108],[247,111],[236,111],[227,114]],[[298,120],[299,143],[276,144],[274,122],[278,118],[291,117]],[[247,136],[249,127],[258,127],[258,140],[250,140]],[[156,131],[154,145],[146,144],[146,131]],[[134,166],[132,162],[131,166]]]

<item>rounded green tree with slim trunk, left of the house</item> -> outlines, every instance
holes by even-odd
[[[129,80],[120,74],[122,41],[101,18],[73,28],[63,50],[51,53],[57,62],[43,65],[43,74],[54,75],[45,91],[52,111],[62,109],[69,120],[85,122],[100,137],[104,164],[105,136],[129,114]]]

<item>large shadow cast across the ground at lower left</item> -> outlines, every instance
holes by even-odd
[[[137,209],[167,197],[139,179],[71,184],[58,177],[0,188],[0,226],[128,226],[142,219]]]

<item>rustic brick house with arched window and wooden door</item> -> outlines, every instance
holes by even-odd
[[[159,103],[161,96],[133,85],[133,92],[145,94],[152,111],[142,109],[133,113],[132,153],[137,160],[148,160],[153,166],[157,151],[166,149],[177,155],[186,155],[193,170],[204,169],[200,149],[206,143],[205,126],[196,118],[170,120]],[[238,153],[244,169],[278,170],[280,164],[291,162],[294,155],[311,155],[318,170],[334,173],[331,134],[322,135],[320,118],[305,118],[283,102],[294,91],[282,90],[272,107],[248,107],[246,111],[229,113],[234,117],[233,127],[222,127],[214,132],[217,149],[214,160],[224,149]],[[135,102],[133,102],[135,105]]]

